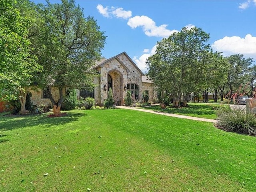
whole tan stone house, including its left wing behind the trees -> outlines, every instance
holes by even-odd
[[[142,92],[144,90],[148,92],[149,101],[153,101],[153,98],[157,96],[153,83],[146,78],[126,52],[102,60],[94,68],[100,74],[99,78],[94,78],[96,87],[93,91],[77,90],[78,98],[90,96],[95,99],[98,105],[103,105],[109,88],[112,88],[114,96],[118,98],[118,105],[124,104],[127,91],[130,91],[136,100],[140,101],[142,101]],[[54,98],[59,97],[56,88],[52,87],[51,91]],[[51,104],[46,88],[30,89],[30,92],[32,92],[31,100],[34,105]]]

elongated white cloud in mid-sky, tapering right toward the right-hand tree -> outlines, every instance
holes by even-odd
[[[178,32],[178,30],[169,30],[166,27],[168,25],[163,24],[160,26],[156,26],[156,22],[154,22],[148,16],[135,16],[128,20],[128,26],[132,29],[137,27],[142,27],[144,33],[147,36],[156,36],[156,37],[168,37],[174,32]]]

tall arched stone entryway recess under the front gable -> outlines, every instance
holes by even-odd
[[[116,104],[122,105],[122,74],[118,70],[110,70],[108,72],[108,90],[111,87],[113,94],[114,94],[114,100]]]

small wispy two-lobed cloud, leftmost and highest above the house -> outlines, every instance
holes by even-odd
[[[104,8],[101,4],[98,4],[96,8],[98,9],[98,12],[104,17],[114,16],[116,18],[128,19],[132,16],[131,11],[126,11],[121,7],[112,6],[111,8],[109,8],[108,6],[106,6]]]

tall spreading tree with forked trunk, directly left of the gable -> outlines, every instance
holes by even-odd
[[[106,36],[94,18],[83,15],[83,9],[74,0],[61,4],[38,4],[40,16],[31,41],[44,67],[38,74],[38,83],[47,87],[54,114],[60,114],[63,91],[68,88],[91,87],[96,71],[93,65],[100,59]],[[59,98],[53,98],[51,86],[59,89]]]

